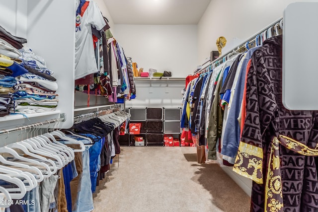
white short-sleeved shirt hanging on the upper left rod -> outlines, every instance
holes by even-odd
[[[79,11],[76,17],[75,79],[98,71],[91,26],[101,30],[106,25],[94,1],[85,2]]]

